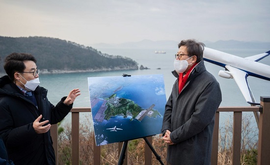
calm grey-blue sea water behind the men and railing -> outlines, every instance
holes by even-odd
[[[99,71],[99,72],[78,72],[78,73],[61,73],[61,74],[39,74],[40,86],[48,89],[48,99],[54,105],[60,100],[61,97],[66,96],[74,88],[81,90],[81,95],[76,98],[74,107],[90,107],[89,91],[87,77],[98,76],[121,76],[123,73],[130,75],[145,75],[145,74],[163,74],[166,98],[169,97],[176,78],[172,75],[173,61],[175,59],[174,54],[176,49],[163,50],[165,54],[157,54],[153,49],[98,49],[102,53],[110,55],[121,55],[129,57],[138,63],[138,67],[143,65],[150,68],[148,70],[130,70],[130,71]],[[247,57],[256,54],[266,52],[264,49],[223,49],[230,54],[234,54],[240,57]],[[77,56],[77,54],[75,54]],[[236,63],[241,61],[236,61]],[[261,63],[270,65],[270,57],[260,61]],[[80,65],[80,64],[78,64]],[[38,62],[37,62],[38,66]],[[216,66],[214,64],[205,62],[206,69],[212,73],[219,82],[222,92],[222,102],[220,106],[250,106],[246,103],[243,94],[238,88],[234,79],[226,79],[218,76],[218,71],[224,68]],[[160,69],[159,69],[160,68]],[[256,77],[248,77],[248,84],[252,93],[256,99],[256,102],[260,102],[260,96],[270,96],[270,81],[262,80]],[[80,119],[83,120],[85,114],[80,113]],[[255,118],[252,112],[243,113],[252,115],[252,123],[256,124]],[[163,114],[162,114],[163,115]],[[91,116],[87,115],[87,118]],[[224,124],[227,120],[232,120],[233,114],[222,112],[220,113],[219,125]],[[91,118],[92,120],[92,118]],[[63,121],[65,124],[71,124],[71,115],[69,114]]]

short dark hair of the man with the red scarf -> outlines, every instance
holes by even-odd
[[[189,40],[182,40],[178,44],[178,48],[180,48],[181,46],[187,47],[189,57],[191,56],[197,57],[196,62],[200,62],[203,60],[203,50],[205,47],[204,43],[198,42],[195,39],[189,39]]]

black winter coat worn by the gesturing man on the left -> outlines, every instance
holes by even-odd
[[[69,113],[72,105],[65,105],[63,97],[54,107],[47,98],[47,90],[40,86],[34,95],[38,109],[8,76],[0,78],[0,136],[15,165],[55,165],[50,130],[37,134],[33,121],[42,115],[41,121],[56,124]]]

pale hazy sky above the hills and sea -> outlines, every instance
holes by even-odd
[[[270,42],[270,0],[0,0],[0,36]]]

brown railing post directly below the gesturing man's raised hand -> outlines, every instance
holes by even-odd
[[[79,160],[79,112],[71,113],[71,123],[72,123],[72,165],[80,165]]]

